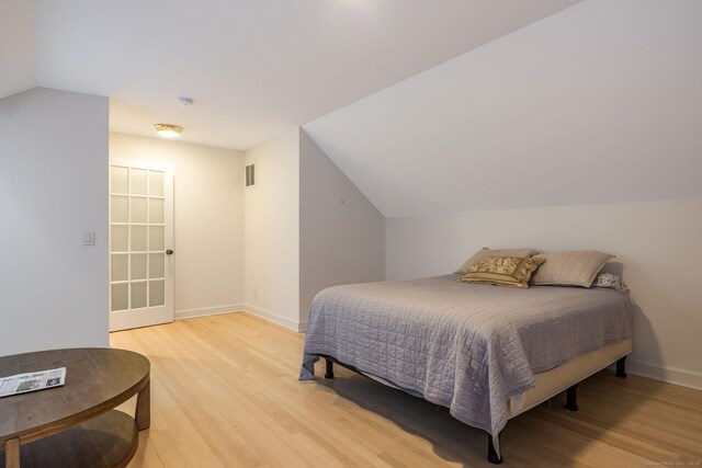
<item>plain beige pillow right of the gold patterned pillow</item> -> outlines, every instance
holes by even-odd
[[[613,258],[596,250],[540,253],[534,259],[543,259],[545,263],[534,274],[532,284],[590,287],[598,272]]]

